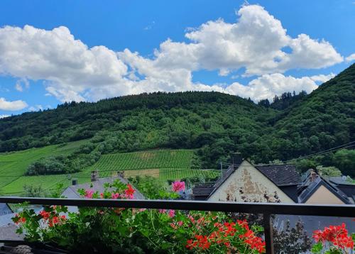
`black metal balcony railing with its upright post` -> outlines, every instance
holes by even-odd
[[[99,206],[146,209],[178,209],[190,211],[224,211],[247,214],[263,214],[266,253],[273,253],[273,214],[355,217],[355,205],[324,204],[280,204],[280,203],[237,203],[185,200],[137,200],[137,199],[48,199],[28,197],[0,197],[0,203],[62,205],[62,206]],[[4,242],[0,239],[0,242]]]

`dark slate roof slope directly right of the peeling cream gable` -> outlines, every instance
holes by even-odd
[[[301,182],[301,177],[294,165],[256,165],[254,167],[278,187],[300,184]]]

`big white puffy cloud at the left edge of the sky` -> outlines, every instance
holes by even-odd
[[[121,84],[127,67],[104,46],[88,48],[60,26],[45,31],[25,26],[0,28],[0,73],[47,80],[47,91],[61,101],[83,100],[91,87]],[[18,86],[18,89],[21,88]]]

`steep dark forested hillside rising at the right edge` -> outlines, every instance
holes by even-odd
[[[275,158],[297,158],[355,140],[355,65],[304,96],[275,119]]]

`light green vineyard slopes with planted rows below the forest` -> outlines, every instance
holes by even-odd
[[[21,152],[0,153],[0,194],[21,194],[26,184],[50,190],[59,183],[65,187],[69,186],[72,178],[77,179],[79,183],[89,182],[92,170],[98,170],[100,177],[111,177],[116,175],[117,171],[124,171],[125,177],[148,175],[159,180],[219,175],[219,172],[214,170],[191,170],[193,150],[148,150],[102,155],[94,165],[72,175],[23,176],[28,165],[35,160],[48,155],[69,154],[84,142],[87,140]]]

